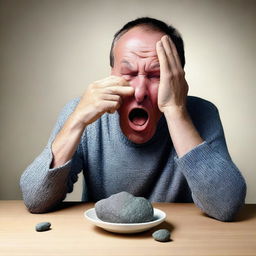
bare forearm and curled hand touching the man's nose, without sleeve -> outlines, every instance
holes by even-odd
[[[50,168],[61,166],[72,158],[88,124],[106,112],[114,113],[122,104],[122,97],[133,94],[134,89],[118,76],[90,84],[52,143],[53,159]]]

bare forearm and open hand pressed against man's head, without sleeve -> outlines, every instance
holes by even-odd
[[[157,43],[160,62],[158,106],[165,115],[179,157],[203,142],[186,109],[188,85],[178,53],[168,36]]]

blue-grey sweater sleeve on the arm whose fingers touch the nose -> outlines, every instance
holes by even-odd
[[[80,146],[71,160],[57,168],[50,168],[53,159],[52,142],[68,116],[74,111],[77,103],[78,99],[75,99],[65,105],[51,132],[46,147],[25,169],[20,178],[24,203],[32,213],[47,212],[61,202],[66,194],[73,190],[77,175],[82,170]]]

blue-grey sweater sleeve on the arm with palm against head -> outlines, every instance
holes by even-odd
[[[205,141],[175,162],[187,179],[194,203],[209,216],[231,221],[244,203],[246,183],[229,156],[218,110],[213,104],[208,106],[195,119]]]

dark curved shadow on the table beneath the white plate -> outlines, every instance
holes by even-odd
[[[157,231],[158,229],[163,229],[163,228],[168,229],[170,232],[172,232],[175,227],[171,223],[164,221],[163,223],[159,224],[158,226],[155,226],[147,231],[143,231],[140,233],[133,233],[133,234],[112,233],[112,232],[106,231],[102,228],[99,228],[97,226],[93,227],[94,231],[97,232],[98,234],[108,235],[108,236],[112,236],[112,237],[125,237],[127,239],[145,239],[147,237],[152,237],[152,234],[155,231]],[[170,241],[172,241],[172,240],[170,240]]]

